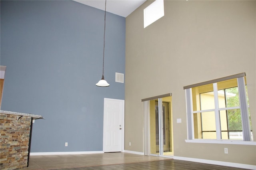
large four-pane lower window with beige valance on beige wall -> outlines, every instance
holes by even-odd
[[[253,140],[245,73],[184,89],[189,140]]]

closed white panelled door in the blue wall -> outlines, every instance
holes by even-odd
[[[122,152],[124,100],[104,98],[103,151]]]

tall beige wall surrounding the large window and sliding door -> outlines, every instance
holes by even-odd
[[[144,28],[152,2],[126,18],[125,150],[143,152],[141,99],[172,93],[174,156],[255,165],[256,146],[185,142],[183,87],[245,72],[256,139],[256,1],[167,0],[164,17]]]

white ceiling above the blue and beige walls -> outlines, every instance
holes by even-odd
[[[105,10],[105,0],[74,0],[81,4],[92,6],[100,10]],[[140,5],[142,5],[146,0],[107,0],[106,11],[127,17],[134,10],[136,10]]]

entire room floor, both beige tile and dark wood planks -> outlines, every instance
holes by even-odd
[[[129,153],[30,156],[26,170],[245,170]]]

